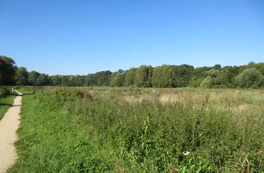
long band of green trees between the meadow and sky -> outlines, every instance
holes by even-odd
[[[0,55],[0,85],[17,86],[128,86],[155,88],[264,88],[264,63],[243,66],[167,65],[132,67],[129,70],[99,71],[88,75],[47,75],[28,72],[15,61]]]

